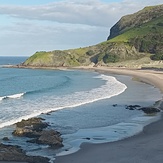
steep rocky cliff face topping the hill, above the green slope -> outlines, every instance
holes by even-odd
[[[133,27],[138,27],[160,16],[163,16],[163,5],[145,7],[143,10],[138,11],[137,13],[123,16],[111,28],[108,40],[124,33]]]

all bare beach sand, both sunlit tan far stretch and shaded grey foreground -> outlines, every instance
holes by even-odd
[[[133,76],[158,87],[163,93],[162,71],[106,67],[91,68],[91,70]],[[163,109],[163,102],[160,107]],[[162,142],[163,117],[130,138],[104,144],[82,144],[78,152],[57,157],[55,163],[163,163]]]

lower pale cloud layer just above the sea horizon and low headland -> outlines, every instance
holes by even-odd
[[[3,31],[0,32],[0,51],[8,55],[32,55],[36,51],[95,45],[106,40],[108,35],[108,28],[37,21],[20,21],[0,27],[0,31]]]

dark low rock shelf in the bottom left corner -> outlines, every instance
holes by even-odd
[[[48,163],[49,159],[41,156],[27,156],[19,146],[0,144],[0,161]]]

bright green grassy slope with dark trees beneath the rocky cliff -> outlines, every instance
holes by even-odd
[[[163,16],[110,39],[109,42],[126,42],[137,51],[155,54],[152,59],[163,54]]]

